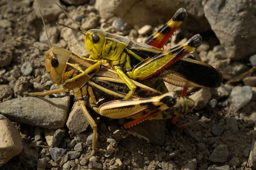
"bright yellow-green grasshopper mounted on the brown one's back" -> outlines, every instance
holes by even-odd
[[[58,6],[61,8],[60,5]],[[63,8],[61,9],[67,14]],[[67,14],[67,16],[70,17],[69,14]],[[151,46],[156,44],[163,45],[166,41],[166,37],[163,38],[162,36],[163,39],[159,40],[157,38],[155,39],[154,36],[161,38],[160,35],[163,34],[166,34],[167,37],[172,35],[175,29],[185,20],[186,16],[186,10],[180,8],[174,17],[158,31],[158,34],[153,34],[149,37],[146,44],[134,42],[127,37],[110,34],[99,29],[86,31],[79,23],[73,20],[72,17],[70,17],[70,19],[81,28],[85,36],[85,47],[90,57],[96,61],[96,64],[92,66],[91,70],[99,67],[99,65],[108,63],[131,90],[124,98],[129,99],[136,89],[136,85],[131,79],[147,79],[159,74],[165,68],[168,68],[170,65],[177,62],[177,60],[201,45],[202,37],[197,34],[186,43],[172,48],[171,50],[165,51]],[[88,74],[88,72],[68,79],[67,82],[73,82],[85,74]],[[164,80],[172,82],[168,81],[168,77],[165,77]],[[176,83],[176,85],[185,86],[185,84],[182,85],[178,83]],[[186,86],[189,87],[189,85]]]

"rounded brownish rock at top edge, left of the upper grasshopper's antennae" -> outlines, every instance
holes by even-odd
[[[61,4],[59,0],[34,0],[33,8],[37,18],[41,19],[40,9],[45,20],[56,20],[62,11],[55,3]]]

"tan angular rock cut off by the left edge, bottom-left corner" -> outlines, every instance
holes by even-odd
[[[0,114],[0,167],[23,149],[19,131]]]

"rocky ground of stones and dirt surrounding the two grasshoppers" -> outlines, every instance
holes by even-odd
[[[165,49],[200,33],[196,59],[221,71],[219,88],[191,88],[193,113],[181,117],[177,129],[170,120],[146,121],[135,130],[151,140],[113,132],[126,120],[111,120],[91,111],[98,130],[98,150],[89,160],[92,129],[72,94],[27,97],[28,92],[55,88],[47,76],[43,51],[49,49],[39,9],[52,46],[88,56],[84,36],[55,5],[61,3],[85,29],[102,30],[143,42],[178,8],[188,17]],[[228,80],[256,65],[255,0],[1,0],[0,4],[0,169],[104,170],[229,170],[247,167],[256,121],[256,77]],[[83,4],[83,5],[81,5]],[[161,25],[162,24],[162,25]],[[254,68],[253,68],[254,69]],[[167,85],[169,91],[182,88]],[[73,107],[73,109],[72,109]],[[11,122],[12,121],[12,122]],[[88,128],[87,128],[88,127]],[[20,137],[21,136],[21,137]],[[255,165],[255,161],[253,161]]]

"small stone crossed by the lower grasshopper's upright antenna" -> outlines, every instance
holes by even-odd
[[[50,28],[47,27],[47,33],[49,36],[50,43],[51,44],[57,43],[57,40],[60,34],[60,31],[57,29],[57,27],[56,26],[50,27]],[[48,44],[47,35],[45,31],[41,32],[39,41]],[[48,45],[48,48],[49,48],[49,45]]]

